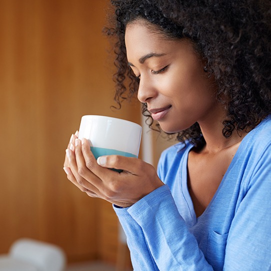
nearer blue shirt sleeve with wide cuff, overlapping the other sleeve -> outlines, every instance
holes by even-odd
[[[167,185],[140,199],[127,212],[139,225],[158,270],[213,270],[187,229]]]

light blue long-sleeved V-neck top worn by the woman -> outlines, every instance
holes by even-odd
[[[114,210],[134,270],[271,270],[271,117],[241,141],[217,191],[196,217],[187,189],[191,145],[161,154],[165,185]]]

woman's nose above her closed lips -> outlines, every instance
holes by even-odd
[[[141,76],[137,91],[137,98],[140,102],[147,102],[157,95],[157,90],[151,79]]]

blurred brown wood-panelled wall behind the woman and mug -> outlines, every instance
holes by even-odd
[[[0,0],[0,254],[20,237],[60,246],[68,263],[115,265],[124,251],[111,204],[79,191],[62,169],[82,115],[143,123],[135,100],[110,108],[114,55],[102,34],[108,6]],[[156,166],[168,142],[146,134],[139,155]]]

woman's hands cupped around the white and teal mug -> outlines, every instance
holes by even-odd
[[[140,159],[106,155],[96,161],[86,139],[74,138],[70,144],[64,163],[67,178],[91,197],[127,207],[163,185],[155,168]]]

